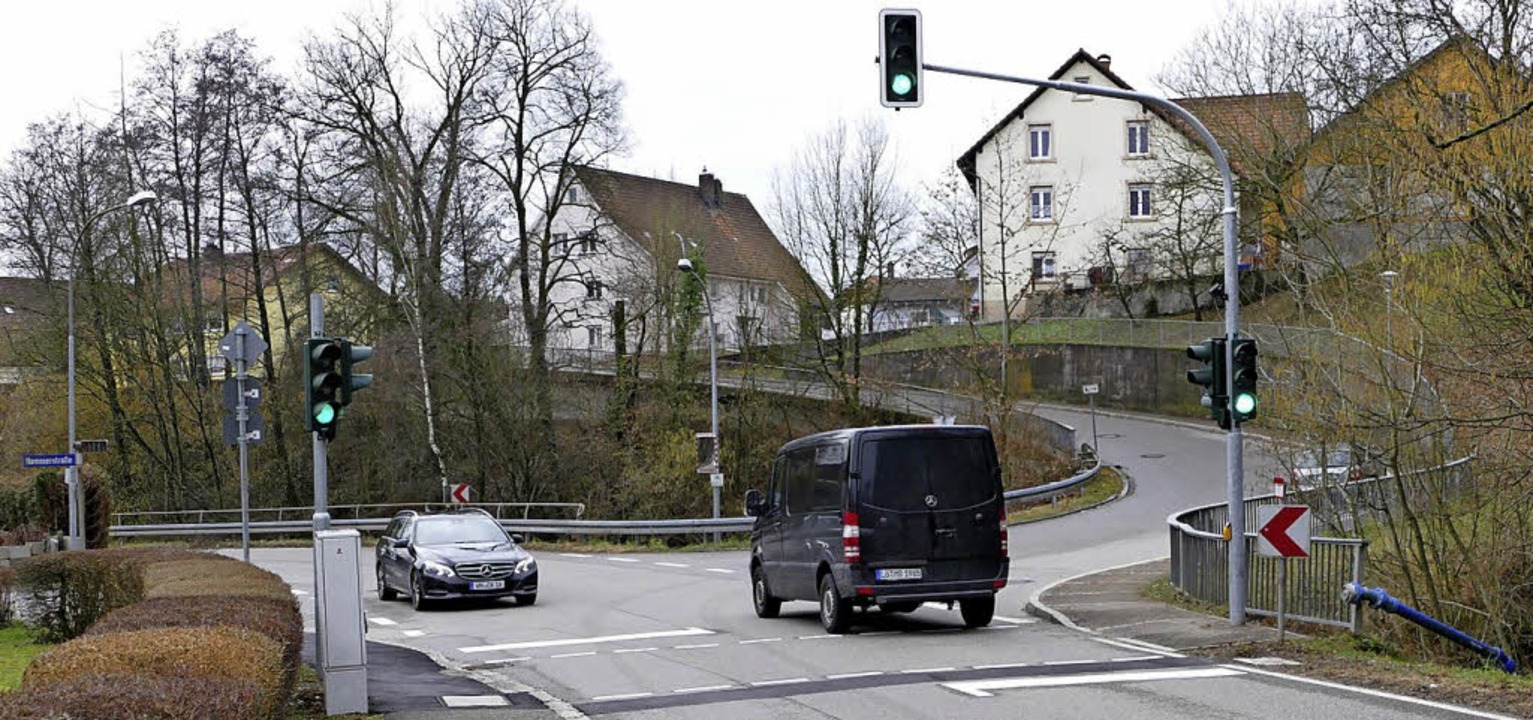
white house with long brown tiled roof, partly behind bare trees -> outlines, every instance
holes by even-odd
[[[630,352],[639,342],[659,348],[664,332],[648,317],[664,302],[661,288],[678,277],[684,247],[707,277],[721,351],[797,340],[799,308],[819,293],[750,198],[724,191],[708,172],[691,185],[575,167],[550,233],[569,248],[560,273],[570,277],[552,293],[555,349],[612,351],[618,300],[625,305]],[[707,343],[704,332],[699,345]]]

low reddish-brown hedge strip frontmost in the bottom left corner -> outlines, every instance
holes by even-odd
[[[84,674],[0,692],[0,718],[245,720],[261,700],[250,680]]]

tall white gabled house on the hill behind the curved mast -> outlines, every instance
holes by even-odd
[[[1050,80],[1130,89],[1108,55],[1078,51]],[[1191,98],[1222,144],[1256,130],[1274,98]],[[1288,106],[1285,106],[1288,107]],[[1308,132],[1308,121],[1305,121]],[[980,207],[981,316],[1023,316],[1044,293],[1173,263],[1219,265],[1220,207],[1213,158],[1182,121],[1141,103],[1038,89],[961,158]],[[1239,169],[1237,169],[1239,170]],[[1179,257],[1171,257],[1179,254]]]

